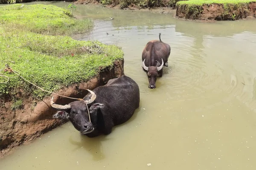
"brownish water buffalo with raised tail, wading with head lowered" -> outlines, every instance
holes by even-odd
[[[159,40],[149,41],[142,52],[142,67],[147,72],[148,88],[156,88],[157,76],[163,75],[163,65],[168,67],[171,47],[161,41],[160,35]]]

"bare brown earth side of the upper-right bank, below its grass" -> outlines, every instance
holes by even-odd
[[[239,20],[256,17],[256,2],[243,4],[177,5],[176,17],[191,20]]]

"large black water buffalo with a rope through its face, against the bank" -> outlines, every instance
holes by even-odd
[[[51,100],[52,107],[61,110],[53,118],[69,119],[76,130],[88,137],[108,135],[113,126],[128,121],[140,105],[139,86],[125,75],[110,79],[106,85],[88,91],[90,93],[83,100],[68,105],[55,104],[53,96]]]

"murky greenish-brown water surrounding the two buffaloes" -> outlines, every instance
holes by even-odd
[[[62,125],[1,159],[1,170],[255,170],[255,20],[197,23],[79,5],[74,13],[95,21],[74,38],[122,47],[140,108],[108,136],[89,139]],[[159,32],[172,48],[169,68],[149,91],[141,53]]]

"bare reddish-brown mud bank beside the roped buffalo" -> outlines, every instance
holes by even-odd
[[[102,70],[90,81],[71,85],[61,89],[57,94],[83,98],[88,93],[86,91],[87,88],[92,90],[98,86],[105,85],[109,79],[122,76],[124,74],[122,71],[123,65],[123,60],[117,60],[112,68]],[[22,109],[12,110],[13,102],[8,96],[6,96],[4,105],[0,108],[0,157],[5,156],[20,144],[28,143],[43,133],[65,123],[61,120],[52,119],[52,114],[56,110],[50,106],[51,96],[45,97],[38,103],[30,94],[26,94],[22,90],[17,96],[23,99]],[[58,104],[67,104],[75,101],[57,95],[54,95],[54,98]]]

